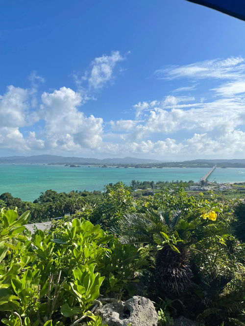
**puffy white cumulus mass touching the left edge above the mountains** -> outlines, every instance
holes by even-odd
[[[0,147],[22,151],[49,150],[59,151],[81,148],[98,148],[102,141],[102,118],[85,116],[78,110],[82,97],[70,88],[62,87],[52,93],[41,96],[40,110],[30,110],[31,94],[29,90],[9,86],[0,96]],[[44,121],[42,138],[35,131],[23,136],[20,128],[32,126]]]

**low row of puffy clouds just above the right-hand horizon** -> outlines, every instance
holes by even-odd
[[[103,153],[115,155],[120,153],[126,155],[133,153],[137,155],[154,155],[155,158],[234,158],[234,155],[243,157],[245,152],[245,133],[240,130],[233,130],[222,136],[212,137],[208,133],[194,133],[187,139],[175,140],[142,140],[125,141],[123,143],[104,143]]]

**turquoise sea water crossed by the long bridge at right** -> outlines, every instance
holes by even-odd
[[[139,181],[199,181],[209,168],[101,168],[97,166],[69,167],[41,164],[0,164],[0,194],[33,201],[42,191],[103,190],[109,183],[122,181],[130,185]],[[245,182],[245,169],[216,168],[209,177],[218,183]]]

